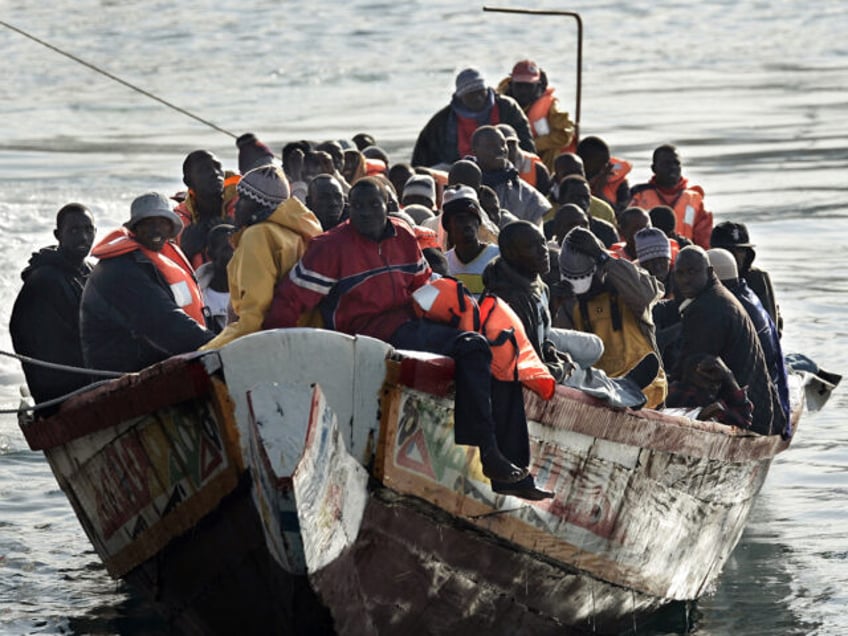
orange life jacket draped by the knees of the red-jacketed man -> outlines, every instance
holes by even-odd
[[[449,276],[419,287],[412,298],[419,317],[485,336],[492,351],[492,376],[505,382],[521,382],[542,399],[553,397],[556,380],[539,359],[521,319],[509,305],[484,294],[478,306],[468,288]]]

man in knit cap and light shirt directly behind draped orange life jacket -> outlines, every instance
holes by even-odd
[[[477,193],[468,186],[448,187],[442,203],[442,227],[453,247],[447,251],[448,273],[468,290],[483,293],[483,270],[500,250],[478,238],[483,211]]]

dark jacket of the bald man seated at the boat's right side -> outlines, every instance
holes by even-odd
[[[678,364],[698,353],[720,356],[739,386],[748,387],[748,398],[754,404],[751,428],[763,435],[782,432],[783,410],[754,325],[745,308],[714,274],[707,287],[684,308],[682,322]]]

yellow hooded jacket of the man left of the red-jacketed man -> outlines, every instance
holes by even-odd
[[[233,235],[235,252],[227,265],[230,303],[238,320],[227,325],[204,349],[255,333],[274,298],[274,288],[323,232],[318,218],[298,199],[283,201],[264,221]]]

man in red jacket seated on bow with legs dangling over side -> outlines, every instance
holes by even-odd
[[[328,329],[431,351],[456,363],[455,439],[480,448],[498,492],[540,499],[528,474],[529,438],[521,385],[492,377],[484,336],[415,317],[413,292],[430,279],[414,234],[388,215],[386,187],[373,178],[350,191],[350,219],[312,240],[277,287],[265,328],[293,327],[318,308]]]

